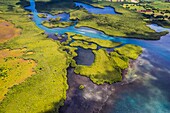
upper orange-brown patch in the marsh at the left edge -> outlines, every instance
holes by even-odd
[[[10,22],[0,19],[0,43],[19,36],[20,31],[20,29],[15,28]]]

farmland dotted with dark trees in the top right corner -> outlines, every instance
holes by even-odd
[[[150,23],[170,28],[170,3],[161,0],[123,4],[124,8],[143,14]]]

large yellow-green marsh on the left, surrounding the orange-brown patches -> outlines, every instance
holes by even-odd
[[[66,69],[69,66],[67,63],[69,56],[60,49],[59,42],[46,38],[44,32],[25,15],[27,12],[18,13],[7,9],[7,5],[21,9],[16,5],[17,2],[19,0],[3,1],[4,4],[0,5],[3,12],[0,13],[0,17],[21,28],[22,34],[1,44],[0,49],[26,48],[26,51],[32,51],[33,54],[25,54],[21,58],[32,59],[37,63],[36,74],[9,89],[0,103],[0,113],[38,113],[51,109],[57,112],[66,99],[68,89]]]

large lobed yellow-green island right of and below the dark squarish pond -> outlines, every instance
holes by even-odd
[[[93,53],[94,63],[91,66],[77,65],[74,72],[89,77],[96,84],[112,84],[122,80],[121,70],[129,66],[129,58],[136,59],[142,53],[142,48],[127,44],[110,54],[104,49],[93,50]]]

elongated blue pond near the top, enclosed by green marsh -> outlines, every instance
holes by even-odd
[[[84,4],[84,3],[79,3],[79,2],[75,2],[75,5],[77,7],[85,8],[89,13],[94,13],[94,14],[117,14],[112,7],[98,8],[98,7],[93,7],[91,5]]]

